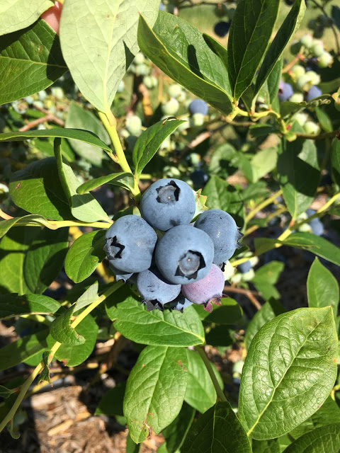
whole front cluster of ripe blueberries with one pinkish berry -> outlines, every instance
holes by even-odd
[[[106,232],[104,250],[117,280],[132,279],[147,310],[164,305],[183,311],[191,304],[220,304],[221,268],[239,248],[234,219],[204,211],[195,223],[195,195],[178,179],[150,185],[140,202],[142,217],[120,217]]]

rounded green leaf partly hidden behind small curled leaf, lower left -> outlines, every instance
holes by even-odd
[[[85,362],[94,350],[98,335],[98,324],[91,314],[88,314],[78,324],[77,332],[79,333],[79,336],[84,338],[84,343],[80,345],[63,343],[55,353],[55,358],[57,360],[62,360],[67,367],[77,367],[77,365]]]

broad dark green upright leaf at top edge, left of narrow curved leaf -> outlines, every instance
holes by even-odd
[[[278,0],[242,0],[237,4],[228,39],[228,70],[234,100],[251,84],[278,16]]]

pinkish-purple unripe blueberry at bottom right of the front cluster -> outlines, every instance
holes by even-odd
[[[198,282],[182,285],[182,294],[194,304],[203,304],[206,311],[212,311],[211,304],[220,305],[222,291],[225,287],[225,277],[222,270],[212,264],[203,279]]]

